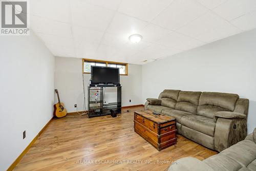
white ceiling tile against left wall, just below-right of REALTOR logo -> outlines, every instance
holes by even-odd
[[[54,45],[61,46],[61,47],[74,46],[73,38],[60,37],[55,35],[43,34],[43,33],[37,33],[37,36],[39,36],[41,40],[45,42],[45,44],[50,44],[52,46]]]

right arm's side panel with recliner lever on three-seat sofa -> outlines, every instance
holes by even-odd
[[[247,135],[246,119],[218,118],[215,126],[214,144],[218,152],[245,139]]]

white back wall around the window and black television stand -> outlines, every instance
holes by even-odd
[[[122,106],[141,104],[141,66],[129,65],[128,72],[127,76],[120,76]],[[83,77],[87,107],[87,87],[91,75],[83,74]],[[58,89],[60,101],[65,104],[68,112],[83,111],[82,59],[55,57],[55,88]],[[115,101],[115,92],[113,88],[106,89],[107,102]],[[74,104],[77,104],[77,108],[74,108]]]

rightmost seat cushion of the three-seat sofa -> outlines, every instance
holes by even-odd
[[[181,124],[189,127],[190,129],[214,137],[216,125],[214,119],[206,118],[199,115],[186,115],[182,116]]]

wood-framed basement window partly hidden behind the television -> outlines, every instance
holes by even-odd
[[[119,68],[120,75],[128,75],[128,63],[112,62],[104,60],[82,59],[82,72],[91,73],[91,66]]]

